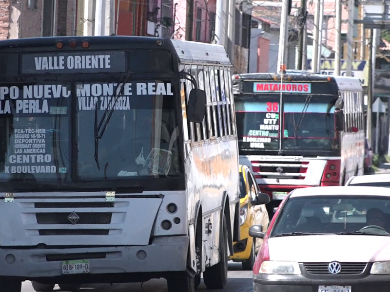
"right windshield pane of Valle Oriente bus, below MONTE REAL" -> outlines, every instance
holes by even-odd
[[[154,92],[160,87],[162,94],[137,91],[140,88],[137,84],[141,83],[153,83]],[[78,177],[81,180],[179,175],[177,130],[174,131],[178,125],[176,102],[170,94],[174,89],[167,84],[153,80],[132,82],[129,86],[133,90],[128,91],[132,94],[119,96],[115,105],[114,99],[103,92],[104,88],[110,88],[107,84],[101,84],[103,90],[96,100],[93,96],[78,96],[79,100],[86,100],[86,105],[91,98],[97,102],[97,110],[94,105],[81,105],[77,111]],[[170,92],[164,93],[163,88]],[[100,122],[107,107],[109,110],[114,107],[113,114],[96,141],[95,120]]]

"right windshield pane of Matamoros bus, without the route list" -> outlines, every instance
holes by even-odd
[[[332,151],[335,97],[285,94],[282,149]]]

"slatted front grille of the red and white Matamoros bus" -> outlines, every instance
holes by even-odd
[[[305,161],[252,161],[256,179],[304,180],[309,162]]]

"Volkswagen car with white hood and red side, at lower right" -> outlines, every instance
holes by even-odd
[[[249,235],[264,240],[253,269],[254,292],[390,291],[388,188],[295,189],[267,233],[254,225]]]

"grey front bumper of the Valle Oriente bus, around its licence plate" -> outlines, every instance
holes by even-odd
[[[56,249],[13,249],[0,247],[0,276],[24,280],[63,275],[62,262],[89,260],[89,273],[98,274],[164,273],[186,270],[188,236],[155,237],[145,246],[60,247]]]

